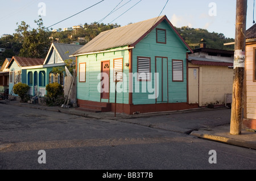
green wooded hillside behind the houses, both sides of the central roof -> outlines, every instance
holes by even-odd
[[[48,42],[50,39],[50,41],[55,41],[59,43],[80,43],[84,45],[92,40],[94,37],[96,37],[100,32],[120,27],[118,24],[99,24],[94,22],[90,24],[85,23],[84,25],[81,24],[81,26],[79,26],[81,28],[77,30],[67,28],[67,30],[59,29],[56,31],[49,31],[43,28],[42,24],[39,24],[40,26],[38,27],[38,29],[28,31],[29,26],[25,22],[23,22],[22,24],[20,24],[20,26],[18,26],[16,33],[0,38],[0,48],[6,49],[5,52],[0,53],[0,66],[2,65],[2,62],[5,60],[6,57],[11,58],[14,55],[20,56],[24,53],[25,54],[23,56],[26,56],[26,52],[28,52],[28,49],[22,49],[22,47],[24,47],[24,43],[26,43],[25,40],[29,42],[36,42],[34,41],[36,37],[34,36],[35,33],[40,33],[41,39],[45,39],[44,42]],[[224,46],[224,43],[234,42],[234,39],[226,38],[223,33],[211,33],[201,28],[189,27],[176,28],[176,30],[180,33],[180,35],[192,49],[199,48],[199,41],[201,41],[201,39],[207,41],[207,48],[225,50],[234,49],[234,45]],[[21,32],[23,32],[23,34]],[[25,37],[25,35],[27,37]],[[42,47],[42,50],[47,53],[48,47]],[[23,52],[23,54],[21,54],[21,52]],[[45,56],[45,53],[41,54],[42,57],[40,58],[44,58],[43,56]]]

